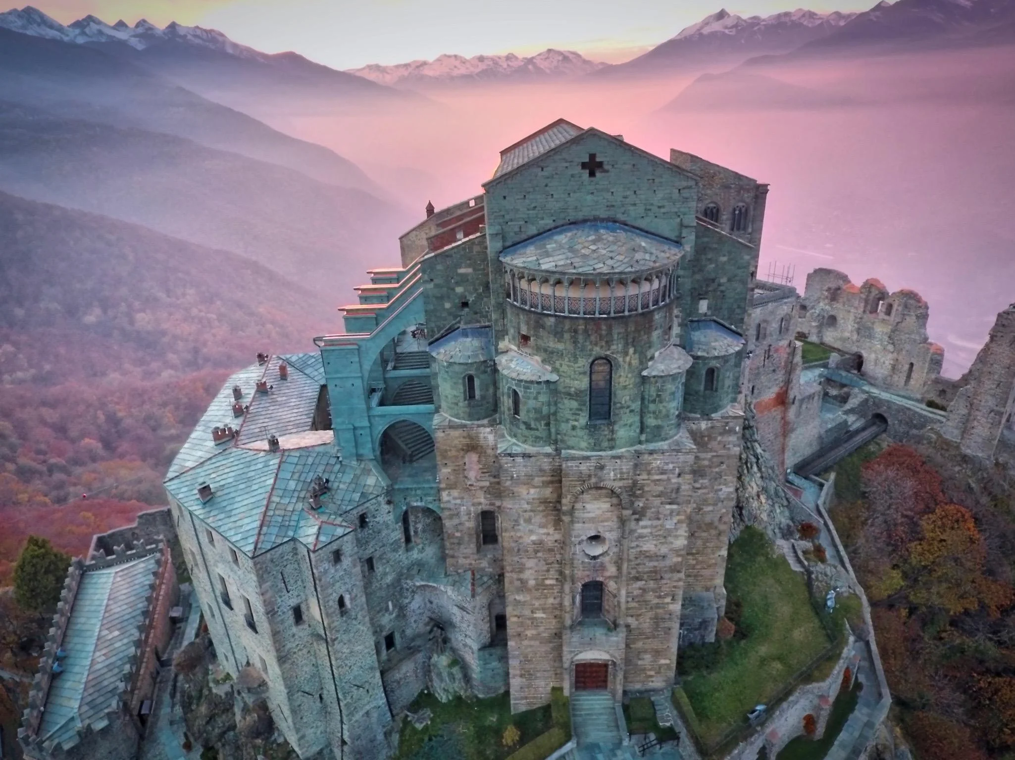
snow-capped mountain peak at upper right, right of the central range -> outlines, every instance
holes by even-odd
[[[856,13],[817,13],[802,8],[770,16],[743,17],[725,8],[682,29],[610,73],[668,72],[700,63],[728,64],[766,53],[788,53],[827,37]]]

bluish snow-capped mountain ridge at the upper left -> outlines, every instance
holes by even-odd
[[[134,50],[146,48],[165,42],[187,43],[200,48],[228,53],[239,58],[266,60],[268,56],[253,48],[238,45],[216,29],[205,29],[201,26],[184,26],[176,21],[165,28],[141,19],[133,26],[124,20],[108,24],[100,18],[87,15],[73,23],[64,26],[54,18],[30,5],[17,10],[0,13],[0,27],[19,31],[22,34],[42,37],[48,40],[59,40],[65,43],[123,43]]]

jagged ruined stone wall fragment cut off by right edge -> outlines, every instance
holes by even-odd
[[[942,432],[966,454],[994,460],[999,447],[1015,448],[1015,303],[998,315],[987,344],[948,406]]]

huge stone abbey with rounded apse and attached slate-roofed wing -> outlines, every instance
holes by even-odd
[[[319,353],[233,374],[165,480],[219,660],[302,757],[385,756],[446,647],[516,711],[668,687],[725,607],[766,186],[558,120],[483,188]]]

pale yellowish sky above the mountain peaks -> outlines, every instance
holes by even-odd
[[[808,7],[862,10],[872,4],[815,0]],[[92,13],[110,23],[147,18],[159,25],[211,26],[267,53],[294,50],[340,69],[550,47],[616,62],[721,7],[716,0],[39,0],[36,6],[64,23]],[[738,0],[727,9],[767,15],[795,7],[793,0]]]

